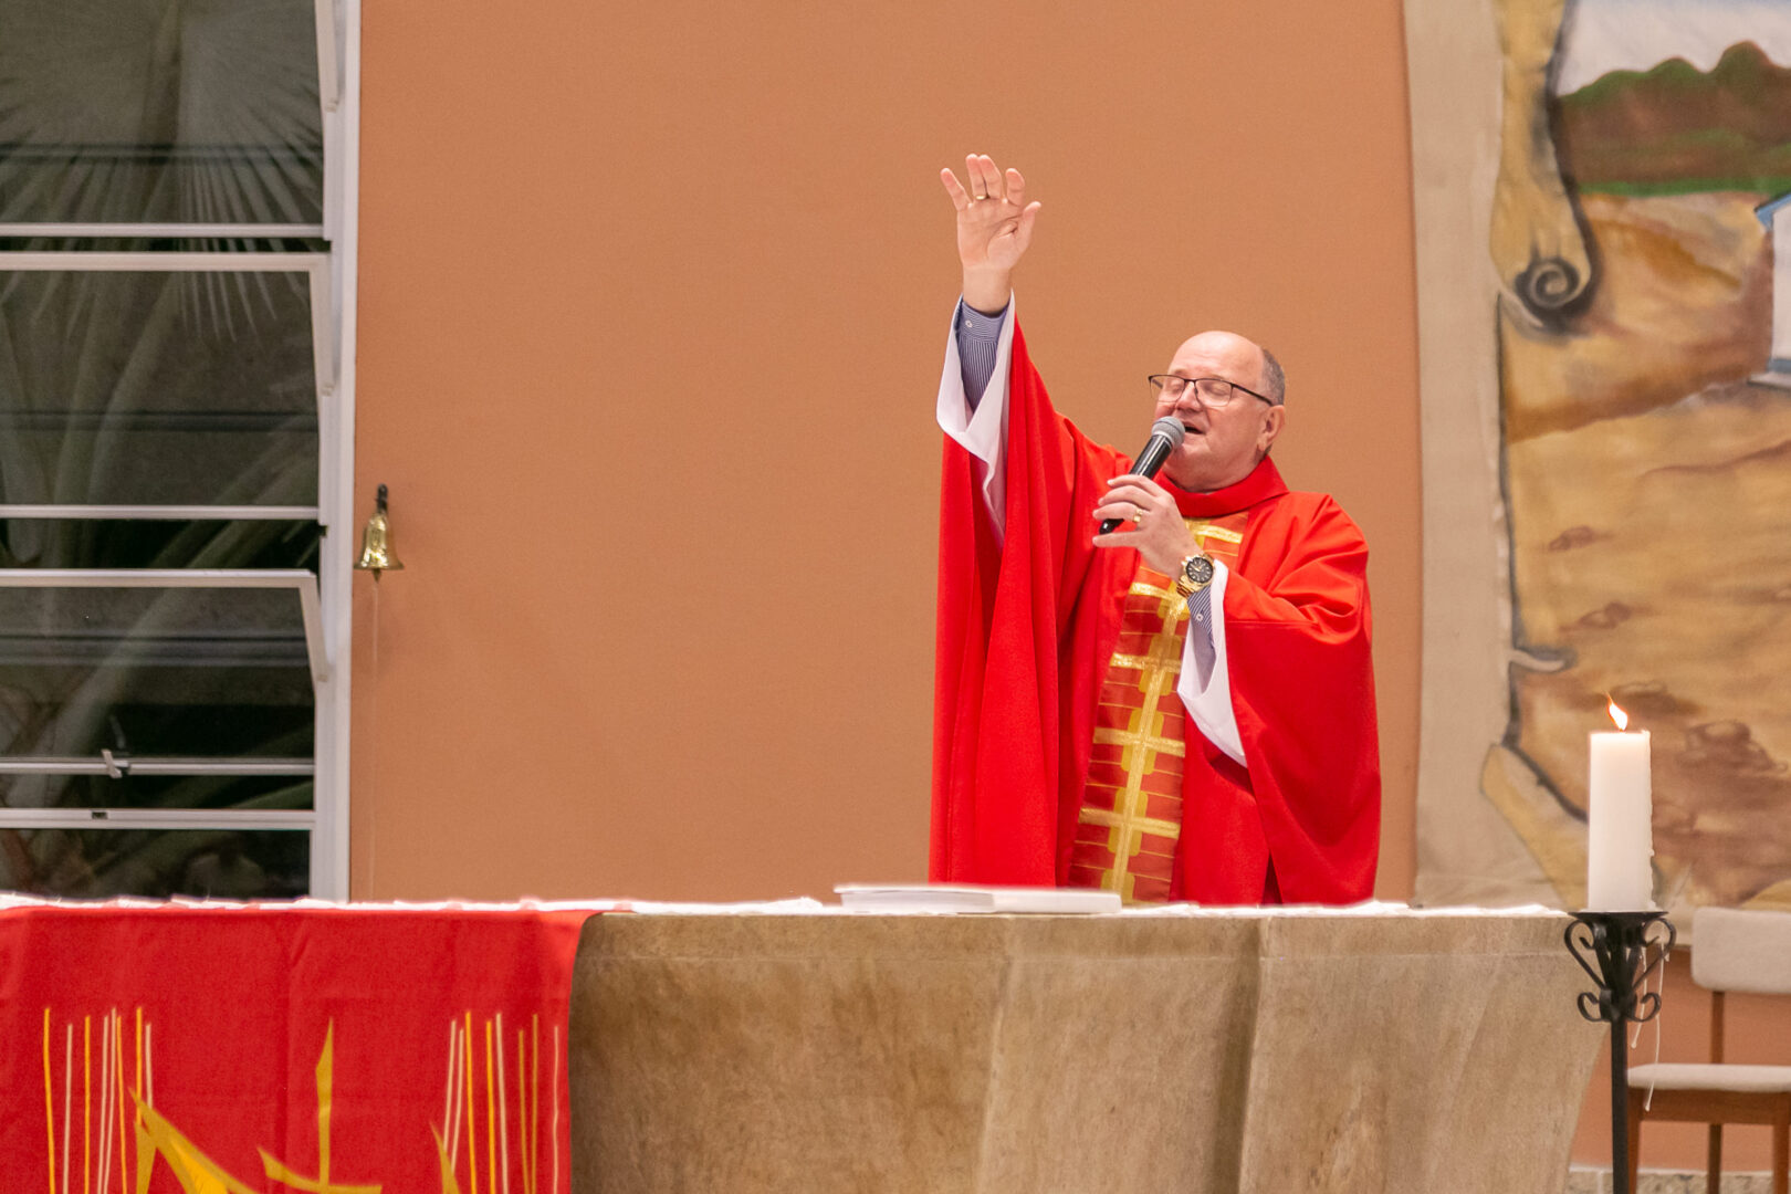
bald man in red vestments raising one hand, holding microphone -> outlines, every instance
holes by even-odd
[[[1026,356],[1024,179],[973,154],[940,181],[964,297],[938,392],[933,879],[1141,904],[1368,899],[1368,551],[1270,460],[1281,365],[1227,331],[1184,342],[1150,388],[1186,435],[1155,480],[1132,473],[1057,414]]]

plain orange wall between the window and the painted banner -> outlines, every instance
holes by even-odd
[[[527,13],[527,16],[523,16]],[[1395,0],[365,9],[353,893],[741,899],[926,866],[942,165],[1044,200],[1053,394],[1200,328],[1374,551],[1411,877],[1418,424]]]

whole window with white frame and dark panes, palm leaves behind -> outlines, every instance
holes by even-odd
[[[337,7],[0,0],[0,888],[347,895]]]

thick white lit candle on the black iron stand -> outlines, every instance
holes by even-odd
[[[1612,716],[1623,712],[1615,705],[1612,711]],[[1653,782],[1648,730],[1592,734],[1589,806],[1585,906],[1592,911],[1653,908]]]

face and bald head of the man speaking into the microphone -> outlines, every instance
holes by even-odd
[[[1250,340],[1229,331],[1204,331],[1175,351],[1170,367],[1182,378],[1221,378],[1266,394],[1263,353]],[[1180,397],[1157,397],[1157,417],[1180,421],[1187,428],[1182,446],[1162,465],[1171,482],[1191,492],[1211,492],[1234,485],[1250,474],[1275,437],[1286,410],[1234,390],[1229,405],[1205,406],[1195,387]]]

